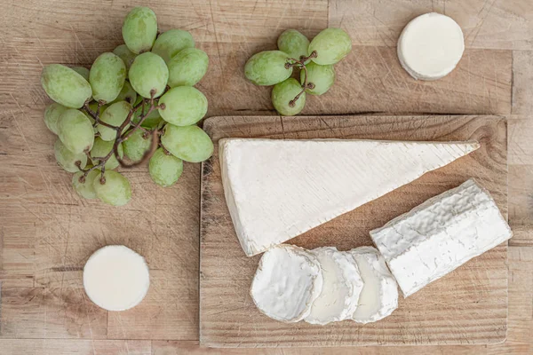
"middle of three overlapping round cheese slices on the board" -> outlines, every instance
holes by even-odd
[[[328,324],[354,314],[362,290],[362,279],[354,258],[337,248],[315,248],[312,253],[322,269],[322,292],[314,300],[306,322]]]

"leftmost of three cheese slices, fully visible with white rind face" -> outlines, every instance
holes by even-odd
[[[311,311],[322,291],[317,258],[303,248],[282,244],[267,251],[251,282],[251,298],[272,319],[297,322]]]

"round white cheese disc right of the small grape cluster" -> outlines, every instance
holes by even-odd
[[[398,58],[415,79],[436,80],[448,75],[465,51],[457,22],[436,12],[411,20],[398,40]]]

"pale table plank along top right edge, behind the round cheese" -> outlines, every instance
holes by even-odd
[[[331,0],[330,26],[347,28],[354,44],[395,47],[407,22],[426,12],[456,20],[466,48],[530,50],[533,45],[528,0]]]

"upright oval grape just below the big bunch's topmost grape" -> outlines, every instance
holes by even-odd
[[[158,98],[169,80],[169,68],[163,58],[148,51],[133,60],[129,78],[131,86],[140,96],[150,99],[150,91],[154,90],[154,97]]]

